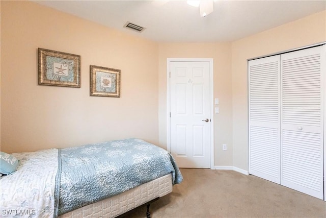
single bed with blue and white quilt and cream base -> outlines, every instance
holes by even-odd
[[[116,217],[182,181],[169,152],[136,138],[13,156],[16,171],[0,178],[1,217]]]

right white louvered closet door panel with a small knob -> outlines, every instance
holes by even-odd
[[[324,46],[281,55],[281,184],[323,199]]]

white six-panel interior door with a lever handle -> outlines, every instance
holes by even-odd
[[[170,114],[178,166],[210,168],[210,62],[170,62]]]

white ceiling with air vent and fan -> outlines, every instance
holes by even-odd
[[[158,42],[234,41],[326,9],[324,0],[218,0],[213,13],[200,17],[199,8],[186,1],[35,2]],[[127,21],[146,30],[138,33],[123,28]]]

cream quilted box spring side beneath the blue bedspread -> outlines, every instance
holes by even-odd
[[[60,218],[116,217],[172,192],[172,174],[144,183],[119,195],[62,214]],[[146,211],[144,211],[144,214]]]

